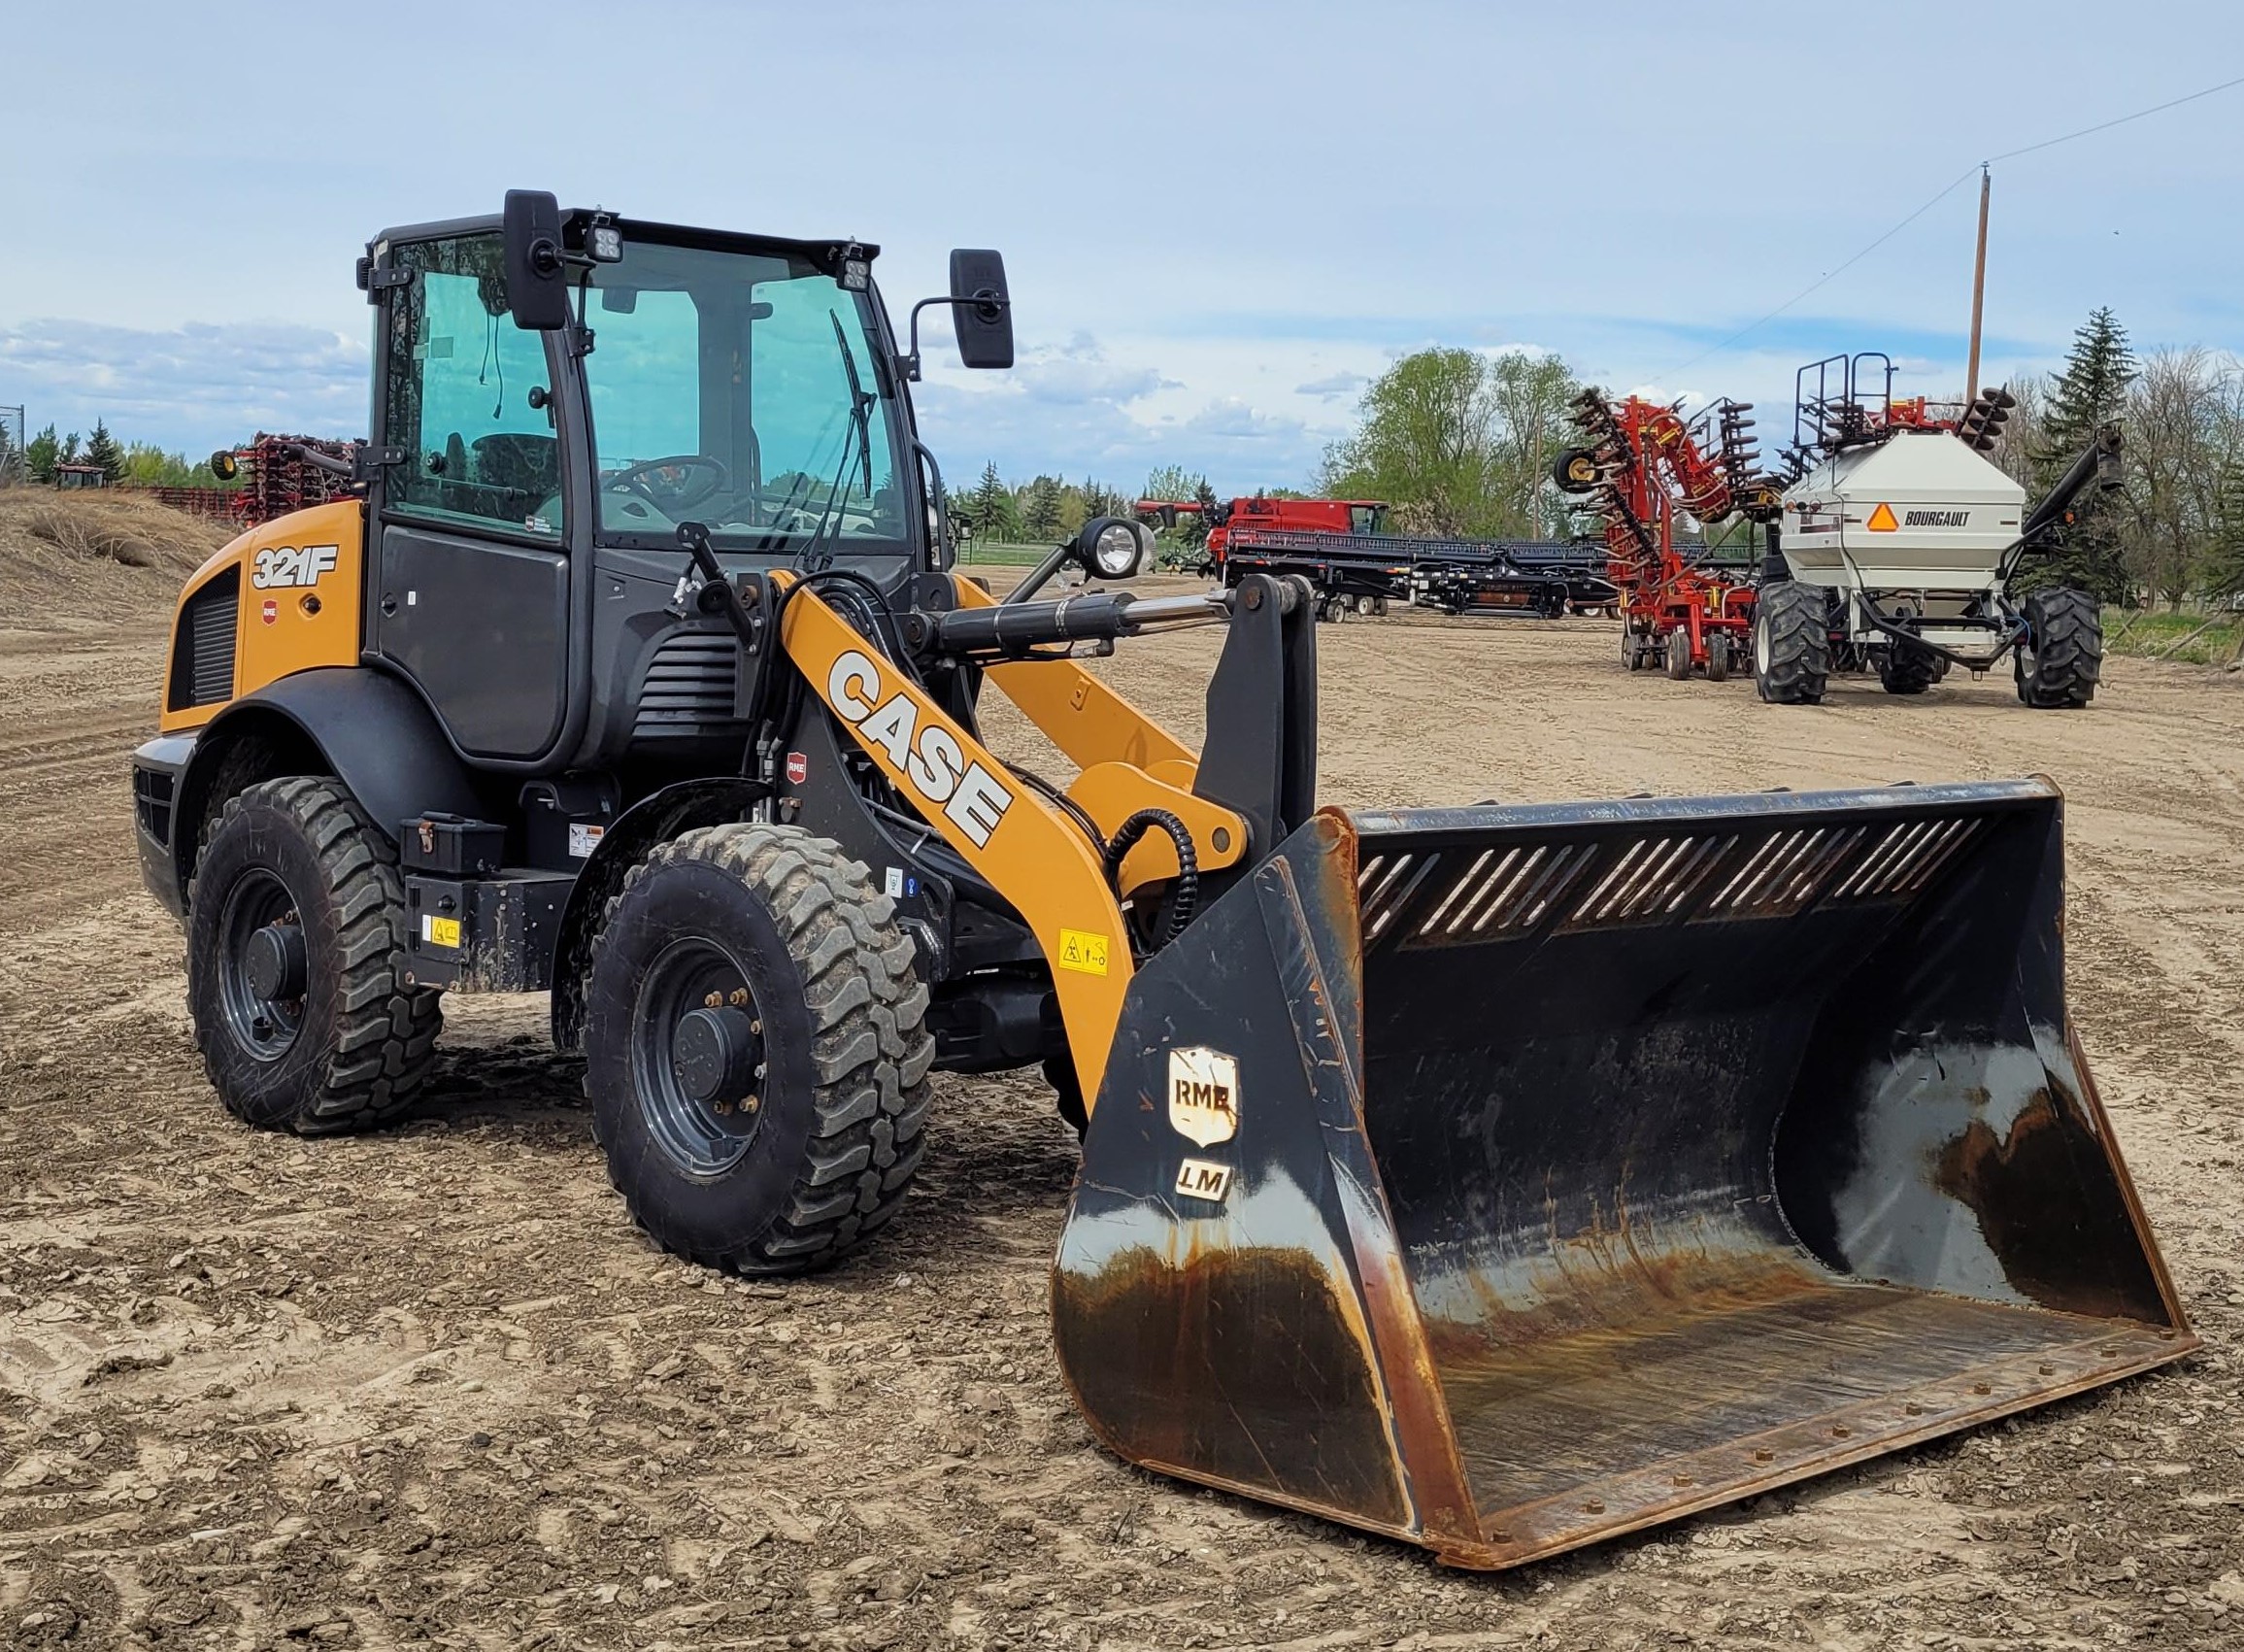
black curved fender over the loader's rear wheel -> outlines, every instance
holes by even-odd
[[[413,815],[482,815],[476,779],[453,754],[435,714],[397,678],[368,667],[314,667],[245,694],[195,734],[180,774],[173,862],[184,891],[202,848],[197,822],[229,754],[263,741],[287,759],[280,772],[334,774],[384,837]],[[254,774],[251,779],[265,779]]]

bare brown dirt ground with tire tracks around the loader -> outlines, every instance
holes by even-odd
[[[543,999],[453,1001],[397,1129],[231,1122],[128,822],[177,572],[18,550],[0,541],[9,1645],[2244,1645],[2244,676],[2118,660],[2069,716],[2006,680],[1777,709],[1748,682],[1629,676],[1602,622],[1322,633],[1340,801],[2062,781],[2073,1010],[2208,1342],[1468,1576],[1091,1443],[1043,1318],[1073,1138],[1028,1077],[945,1080],[902,1217],[785,1286],[633,1232]],[[1102,669],[1196,736],[1214,646]]]

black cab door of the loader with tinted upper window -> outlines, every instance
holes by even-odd
[[[534,763],[568,709],[557,334],[514,325],[498,233],[395,245],[390,269],[373,649],[462,752]]]

